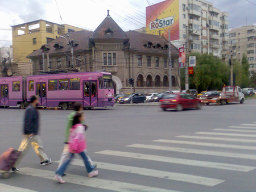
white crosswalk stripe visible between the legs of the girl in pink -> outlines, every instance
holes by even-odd
[[[56,162],[59,162],[59,161],[56,161]],[[202,176],[193,176],[191,174],[163,172],[160,170],[144,169],[144,168],[138,168],[134,166],[109,164],[109,163],[97,162],[97,161],[94,161],[94,162],[97,163],[97,168],[99,169],[113,170],[116,172],[134,173],[142,176],[163,178],[165,180],[182,181],[182,182],[195,183],[198,185],[205,185],[205,186],[215,186],[224,182],[224,180],[217,180],[214,178],[208,178],[208,177],[202,177]],[[84,162],[82,160],[77,160],[77,159],[73,160],[71,164],[84,166]]]

